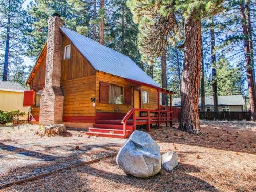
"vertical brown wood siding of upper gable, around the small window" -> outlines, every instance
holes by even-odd
[[[62,58],[64,57],[64,47],[69,44],[71,44],[70,59],[62,59],[61,81],[95,75],[95,69],[65,35],[63,35],[62,41]]]

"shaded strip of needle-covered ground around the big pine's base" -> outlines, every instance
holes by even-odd
[[[252,130],[232,129],[230,127],[201,126],[201,135],[189,134],[176,127],[152,128],[147,132],[159,143],[177,143],[218,150],[255,154],[256,134]],[[145,129],[140,129],[145,131]]]

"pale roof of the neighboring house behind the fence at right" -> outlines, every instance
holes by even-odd
[[[173,98],[172,106],[180,106],[181,98]],[[218,106],[245,105],[242,95],[218,96]],[[198,98],[198,106],[201,106],[201,97]],[[212,96],[205,97],[205,106],[214,106]]]

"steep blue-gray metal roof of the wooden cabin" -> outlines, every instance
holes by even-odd
[[[94,69],[160,87],[129,57],[65,27],[61,31],[88,59]]]

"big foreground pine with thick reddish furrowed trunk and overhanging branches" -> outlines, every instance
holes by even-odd
[[[219,10],[222,1],[147,1],[130,0],[129,4],[139,24],[151,24],[156,19],[156,10],[166,19],[166,23],[175,23],[175,14],[181,13],[184,18],[184,68],[182,72],[181,89],[181,120],[179,129],[189,133],[200,134],[198,114],[198,92],[201,72],[201,18],[210,16]],[[157,12],[158,13],[158,12]],[[145,27],[147,27],[145,25]],[[166,33],[177,32],[175,28],[162,28],[161,36]],[[143,30],[141,30],[143,31]],[[191,33],[193,32],[193,33]],[[160,37],[161,37],[160,36]],[[156,33],[156,44],[162,45]],[[193,42],[193,43],[192,43]],[[158,50],[161,51],[161,47]],[[156,47],[154,47],[156,48]],[[193,97],[191,96],[193,95]]]

